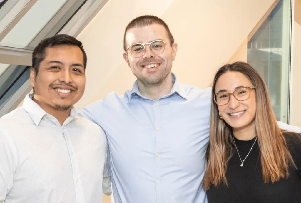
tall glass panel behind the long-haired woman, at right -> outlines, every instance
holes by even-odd
[[[280,0],[248,42],[247,62],[265,80],[278,121],[288,121],[290,0]]]

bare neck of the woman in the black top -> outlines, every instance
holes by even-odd
[[[252,121],[248,126],[242,128],[232,128],[234,137],[238,140],[252,140],[256,137],[255,120]]]

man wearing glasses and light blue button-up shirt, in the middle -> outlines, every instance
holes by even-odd
[[[163,20],[138,17],[126,27],[123,57],[132,90],[85,107],[106,132],[116,203],[202,203],[211,88],[182,85],[171,72],[177,44]]]

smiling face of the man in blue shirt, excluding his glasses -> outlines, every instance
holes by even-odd
[[[126,33],[126,48],[133,44],[148,43],[155,40],[167,42],[161,54],[154,54],[149,45],[145,45],[145,51],[141,57],[134,57],[129,50],[123,54],[137,80],[147,86],[162,83],[168,75],[171,75],[177,44],[173,43],[171,46],[166,29],[159,24],[134,27]]]

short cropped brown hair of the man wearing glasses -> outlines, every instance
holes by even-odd
[[[127,26],[126,30],[124,31],[124,36],[123,36],[123,49],[126,51],[126,32],[133,28],[133,27],[143,27],[143,26],[148,26],[152,24],[159,24],[165,27],[167,36],[169,38],[170,42],[174,42],[173,36],[167,26],[167,24],[159,17],[157,16],[152,16],[152,15],[144,15],[144,16],[139,16],[136,17],[134,20],[132,20]],[[172,45],[172,43],[171,43]]]

